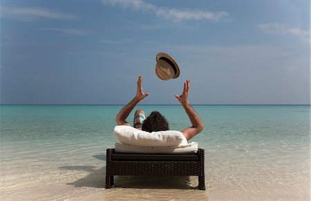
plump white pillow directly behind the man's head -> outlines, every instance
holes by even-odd
[[[118,125],[113,133],[124,145],[138,147],[176,147],[187,145],[187,139],[180,131],[147,132],[126,125]]]

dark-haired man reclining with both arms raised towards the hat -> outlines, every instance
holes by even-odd
[[[204,125],[200,119],[200,116],[198,116],[188,101],[189,86],[190,81],[187,79],[187,81],[184,83],[182,94],[180,96],[175,95],[182,107],[184,107],[192,123],[191,127],[187,127],[181,131],[187,140],[190,140],[204,129]],[[125,105],[121,109],[119,114],[117,114],[117,117],[115,118],[117,125],[131,126],[128,122],[126,122],[126,118],[129,116],[133,108],[138,103],[140,103],[140,100],[146,98],[147,96],[149,96],[149,93],[144,94],[144,92],[142,92],[142,76],[138,76],[136,96],[129,104]],[[169,129],[169,123],[167,123],[167,120],[164,118],[164,116],[162,116],[162,114],[160,114],[160,112],[153,111],[147,118],[145,116],[146,114],[144,114],[144,111],[138,109],[135,112],[133,126],[137,129],[142,129],[143,131],[149,132],[165,131]]]

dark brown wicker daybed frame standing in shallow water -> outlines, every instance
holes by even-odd
[[[194,154],[121,154],[107,149],[106,189],[113,176],[198,176],[198,189],[205,190],[204,149]]]

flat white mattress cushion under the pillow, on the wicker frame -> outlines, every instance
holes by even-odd
[[[127,154],[193,154],[198,151],[198,143],[191,142],[187,145],[177,147],[136,147],[131,145],[123,145],[115,143],[116,153]]]

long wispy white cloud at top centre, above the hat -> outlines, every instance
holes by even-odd
[[[180,10],[176,8],[158,7],[142,0],[102,0],[102,2],[111,6],[121,6],[124,9],[131,8],[142,12],[153,12],[157,17],[172,21],[226,21],[229,19],[229,14],[225,11],[210,12],[208,10],[199,9]]]

